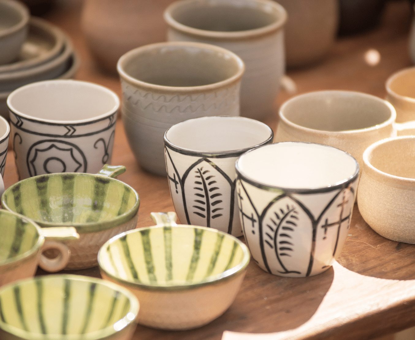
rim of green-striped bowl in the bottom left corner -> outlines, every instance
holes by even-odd
[[[114,328],[115,323],[113,323],[110,326],[102,328],[100,331],[94,331],[94,332],[84,334],[82,339],[85,339],[85,340],[106,339],[107,337],[110,337],[111,335],[119,334],[120,332],[122,332],[122,330],[130,326],[132,323],[137,323],[136,320],[137,320],[137,315],[140,309],[140,305],[139,305],[139,301],[134,296],[134,294],[130,292],[128,289],[125,289],[124,287],[120,285],[117,285],[115,283],[109,282],[107,280],[99,279],[96,277],[90,277],[90,276],[84,276],[84,275],[73,275],[73,274],[54,274],[54,275],[42,275],[42,276],[36,276],[36,277],[29,277],[27,279],[11,282],[3,287],[0,287],[0,295],[6,289],[10,289],[13,286],[16,287],[18,285],[24,284],[29,281],[55,280],[57,278],[62,279],[62,280],[68,279],[71,281],[93,282],[98,285],[106,286],[112,289],[113,291],[118,291],[121,294],[123,294],[125,297],[127,297],[130,303],[129,311],[127,311],[127,313],[125,314],[123,318],[118,320],[118,321],[121,321],[121,320],[124,321],[124,325],[121,328],[115,330]],[[128,317],[130,313],[134,315],[134,318]],[[0,329],[5,330],[7,333],[10,333],[12,335],[16,335],[18,337],[22,337],[23,339],[30,339],[30,340],[79,340],[80,339],[80,334],[44,335],[41,333],[31,333],[26,330],[22,330],[20,328],[11,326],[8,323],[3,322],[1,318],[0,318]]]

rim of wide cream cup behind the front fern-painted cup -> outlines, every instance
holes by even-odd
[[[290,121],[285,115],[284,115],[284,111],[287,110],[287,107],[295,102],[295,101],[299,101],[303,98],[306,97],[312,97],[315,96],[316,94],[326,94],[327,96],[330,96],[331,94],[346,94],[349,96],[360,96],[360,97],[364,97],[364,98],[368,98],[371,100],[376,100],[382,104],[384,104],[385,106],[388,107],[388,109],[391,111],[391,116],[384,121],[383,123],[380,124],[376,124],[376,125],[371,125],[368,126],[366,128],[361,128],[361,129],[354,129],[354,130],[340,130],[340,131],[327,131],[327,130],[317,130],[317,129],[312,129],[312,128],[307,128],[303,125],[298,125],[296,123],[293,123],[292,121]],[[346,90],[327,90],[327,91],[313,91],[313,92],[307,92],[304,94],[300,94],[298,96],[294,96],[291,99],[288,99],[283,105],[281,105],[280,110],[279,110],[279,118],[281,119],[281,121],[283,121],[284,123],[286,123],[287,125],[298,129],[298,130],[302,130],[304,132],[308,132],[308,133],[316,133],[318,132],[319,134],[324,134],[324,135],[329,135],[329,136],[338,136],[339,134],[344,134],[344,135],[351,135],[351,134],[356,134],[356,133],[362,133],[362,132],[366,132],[366,131],[374,131],[377,130],[379,128],[383,128],[385,126],[391,125],[395,122],[396,120],[396,110],[393,107],[393,105],[391,103],[389,103],[386,100],[380,99],[376,96],[372,96],[371,94],[366,94],[366,93],[362,93],[362,92],[356,92],[356,91],[346,91]]]

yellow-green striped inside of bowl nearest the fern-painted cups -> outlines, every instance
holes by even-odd
[[[100,251],[100,265],[119,279],[150,286],[209,281],[242,263],[242,246],[232,236],[198,227],[135,229]]]

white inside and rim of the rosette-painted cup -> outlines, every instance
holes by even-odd
[[[78,80],[29,84],[7,98],[9,109],[35,120],[81,123],[115,113],[120,100],[111,90]]]

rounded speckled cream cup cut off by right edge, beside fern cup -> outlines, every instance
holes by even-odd
[[[378,234],[415,244],[415,136],[374,143],[363,154],[358,205]]]

